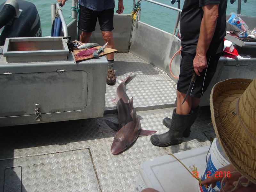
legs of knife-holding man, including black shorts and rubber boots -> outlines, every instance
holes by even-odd
[[[200,109],[200,98],[211,82],[220,54],[207,57],[208,67],[201,72],[201,76],[197,76],[186,101],[181,105],[194,73],[193,60],[195,58],[193,54],[181,52],[180,76],[177,84],[177,108],[172,112],[172,119],[164,118],[163,120],[164,125],[169,126],[169,131],[151,136],[150,141],[153,145],[168,147],[182,143],[182,137],[189,137],[190,127],[195,122]]]

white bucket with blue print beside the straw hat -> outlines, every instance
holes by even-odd
[[[224,154],[224,151],[222,150],[222,148],[220,147],[220,144],[217,138],[215,138],[212,141],[212,146],[210,148],[210,156],[207,159],[206,170],[203,172],[201,176],[201,180],[205,180],[207,177],[211,177],[211,175],[215,173],[218,169],[228,164],[230,164],[228,162],[228,158]],[[219,175],[216,175],[216,176],[219,176],[219,177],[221,177],[222,175],[227,176],[227,173],[224,173],[224,172],[219,172],[218,174]],[[219,190],[220,190],[219,181],[216,183],[215,188],[211,188],[211,185],[208,188],[205,188],[204,186],[201,187],[200,185],[198,185],[199,192],[217,192]]]

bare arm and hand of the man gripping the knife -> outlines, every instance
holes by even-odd
[[[219,4],[207,4],[202,6],[204,15],[201,21],[199,39],[196,46],[196,57],[193,61],[194,70],[198,76],[207,67],[206,52],[212,41],[212,37],[219,16]]]

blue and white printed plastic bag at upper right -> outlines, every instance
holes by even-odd
[[[235,29],[234,32],[239,37],[247,37],[250,33],[248,26],[236,13],[231,13],[231,17],[228,19],[227,23],[233,26]]]

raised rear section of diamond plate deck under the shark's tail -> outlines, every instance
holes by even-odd
[[[134,108],[173,107],[176,101],[176,83],[161,69],[139,59],[131,53],[116,53],[114,70],[116,77],[125,79],[133,71],[135,77],[126,85],[126,93],[134,100]],[[116,88],[106,85],[105,110],[116,109],[111,100],[116,97]],[[153,108],[154,109],[154,108]]]

